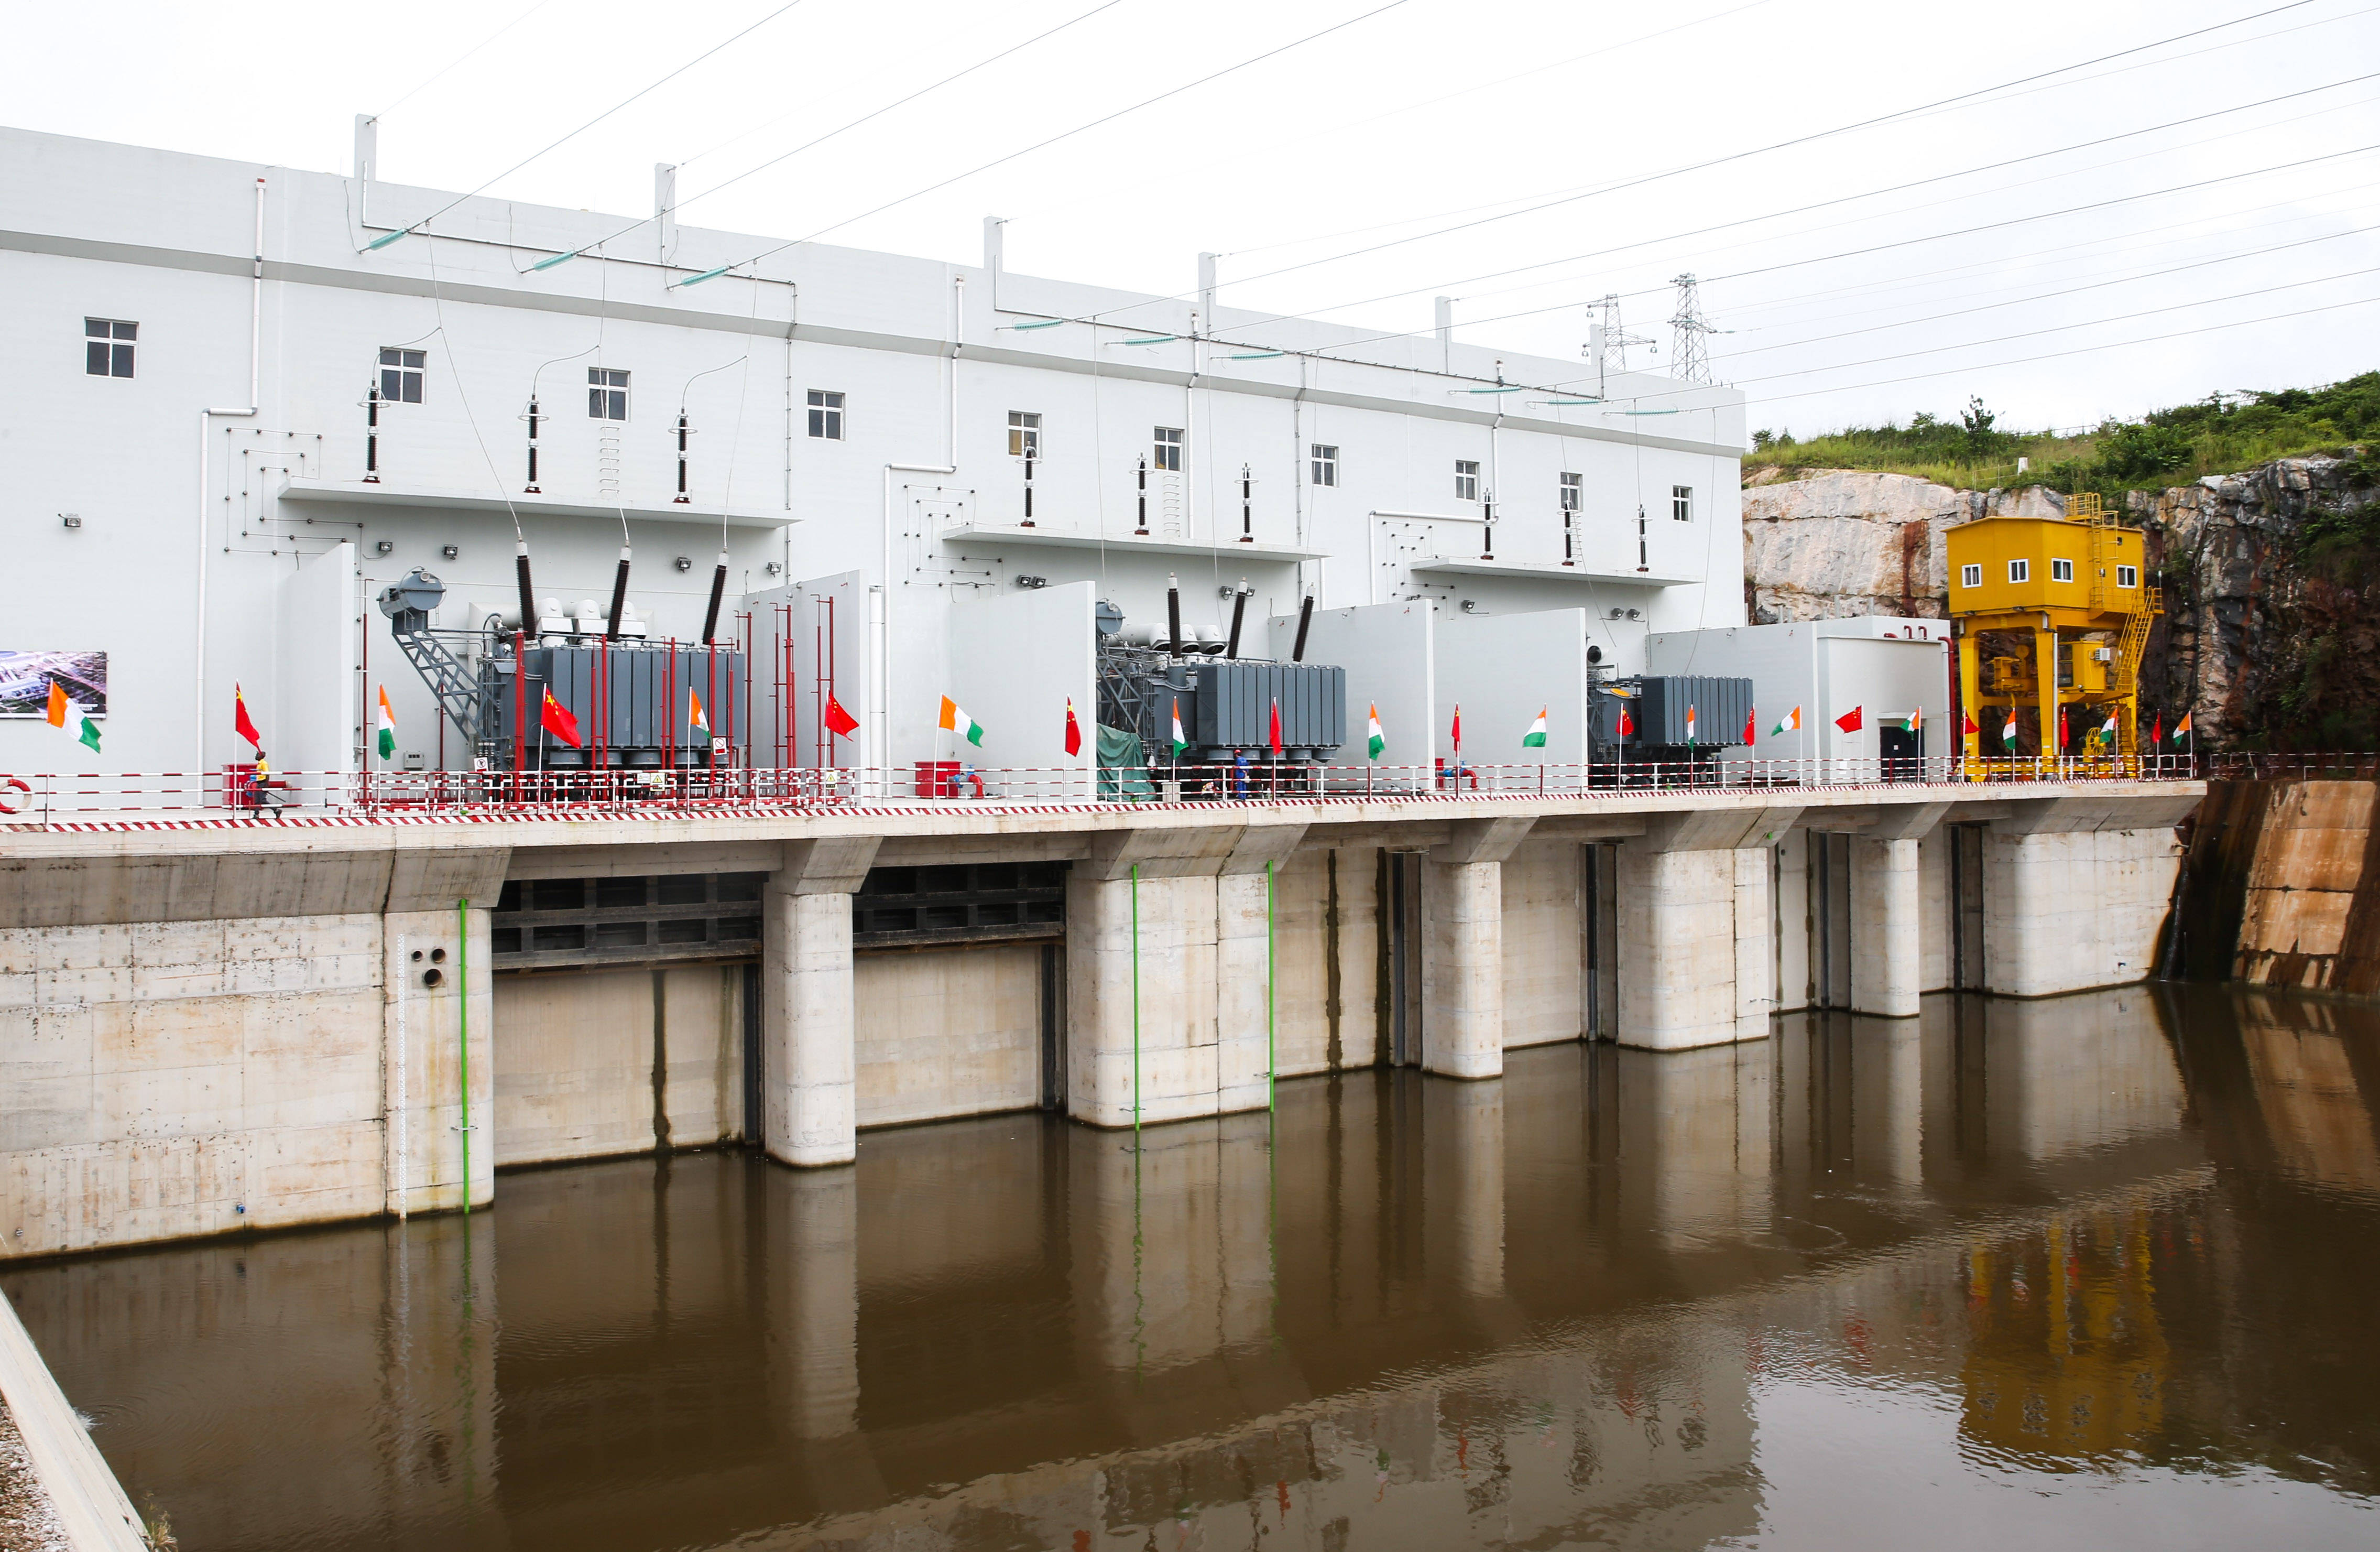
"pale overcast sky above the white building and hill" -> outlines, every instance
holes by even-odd
[[[1457,338],[1516,352],[1580,357],[1618,293],[1630,362],[1666,369],[1695,274],[1711,376],[1795,436],[1971,395],[2080,428],[2380,367],[2380,0],[0,0],[0,26],[17,129],[345,171],[367,112],[397,183],[635,219],[674,162],[695,226],[978,262],[1000,214],[1019,274],[1188,293],[1209,250],[1226,307],[1426,331],[1449,295]]]

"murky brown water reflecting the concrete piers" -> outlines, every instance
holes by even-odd
[[[2373,1547],[2380,1016],[1928,1000],[0,1288],[188,1552]]]

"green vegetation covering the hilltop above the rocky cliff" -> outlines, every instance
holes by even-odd
[[[1804,469],[1878,469],[1966,490],[2021,483],[2097,490],[2121,505],[2125,490],[2182,486],[2275,457],[2349,452],[2373,438],[2380,438],[2380,371],[2328,388],[2216,393],[2137,421],[2109,419],[2080,436],[2002,431],[1983,400],[1968,400],[1949,421],[1918,414],[1906,426],[1852,426],[1809,440],[1754,431],[1745,478],[1761,478],[1764,469],[1783,478]],[[2025,474],[2016,471],[2021,457],[2030,459]],[[2380,478],[2380,457],[2363,450],[2361,462],[2373,462]]]

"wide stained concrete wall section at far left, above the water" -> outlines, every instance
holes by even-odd
[[[381,1007],[378,916],[0,931],[0,1245],[378,1212]]]

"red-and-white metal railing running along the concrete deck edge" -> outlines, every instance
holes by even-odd
[[[98,819],[412,821],[700,816],[845,805],[1150,805],[1756,793],[1923,783],[2190,781],[2294,769],[2375,774],[2373,757],[2061,757],[2061,759],[1690,759],[1595,764],[1230,764],[976,766],[957,759],[885,769],[595,769],[595,771],[217,771],[0,774],[0,826]],[[2306,762],[2325,762],[2306,766]],[[2271,766],[2271,769],[2266,769]]]

